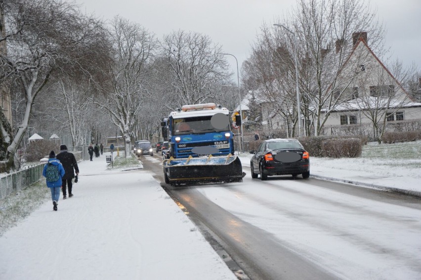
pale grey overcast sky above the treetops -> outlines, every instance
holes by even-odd
[[[70,0],[69,0],[70,1]],[[174,30],[208,35],[235,55],[239,68],[263,22],[274,23],[295,0],[76,0],[87,13],[111,19],[120,15],[152,31],[159,39]],[[392,59],[421,67],[421,0],[371,0],[387,30]],[[369,35],[370,39],[370,35]],[[235,69],[235,59],[227,57]]]

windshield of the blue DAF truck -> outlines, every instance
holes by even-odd
[[[224,125],[218,125],[218,128],[216,128],[212,125],[211,118],[212,116],[201,116],[174,119],[172,135],[229,131],[229,121]],[[223,128],[221,128],[222,126]]]

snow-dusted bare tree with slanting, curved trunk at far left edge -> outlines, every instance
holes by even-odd
[[[74,3],[58,0],[7,0],[0,7],[6,22],[0,41],[5,40],[8,48],[7,56],[0,54],[0,80],[18,81],[26,100],[25,115],[14,135],[6,122],[0,124],[1,139],[7,145],[1,163],[8,171],[19,167],[15,154],[37,95],[55,71],[81,63],[85,46],[95,41],[98,22],[83,16]]]

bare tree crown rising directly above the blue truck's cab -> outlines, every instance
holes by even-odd
[[[207,36],[177,31],[164,37],[161,49],[165,64],[160,64],[159,70],[165,79],[160,81],[169,104],[181,107],[219,98],[217,84],[230,76],[219,45],[212,44]]]

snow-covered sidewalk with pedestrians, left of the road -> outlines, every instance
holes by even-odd
[[[0,279],[237,279],[150,173],[79,168],[73,198],[0,238]]]

